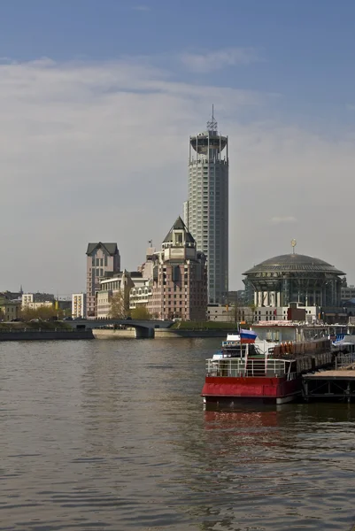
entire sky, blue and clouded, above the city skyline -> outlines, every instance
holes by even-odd
[[[0,289],[85,290],[88,242],[159,249],[189,135],[229,137],[229,289],[276,255],[355,283],[352,0],[3,0]]]

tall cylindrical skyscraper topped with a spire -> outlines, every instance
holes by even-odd
[[[228,136],[218,133],[217,121],[204,133],[189,137],[189,200],[184,221],[208,266],[209,303],[228,296]]]

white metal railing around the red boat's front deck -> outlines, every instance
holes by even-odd
[[[287,359],[206,359],[207,376],[235,378],[240,376],[268,376],[270,378],[280,378],[287,375],[288,380],[293,380],[296,378],[296,373],[291,373],[289,369],[290,363]]]

